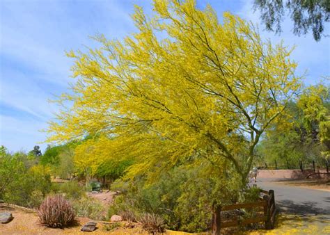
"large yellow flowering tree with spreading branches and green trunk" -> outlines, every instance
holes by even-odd
[[[49,141],[103,136],[77,162],[134,158],[127,177],[194,157],[235,168],[245,183],[260,136],[301,85],[291,50],[192,0],[154,1],[153,11],[136,6],[137,32],[123,40],[97,35],[99,49],[68,53],[77,81],[58,102],[73,104],[50,123]]]

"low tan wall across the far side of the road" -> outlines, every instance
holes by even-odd
[[[311,175],[314,173],[313,170],[259,170],[258,177],[260,178],[281,178],[281,179],[306,179],[308,175],[311,175],[311,179],[327,179],[329,178],[329,174],[327,170],[317,170],[317,173],[320,172],[321,174]],[[322,174],[323,173],[323,174]]]

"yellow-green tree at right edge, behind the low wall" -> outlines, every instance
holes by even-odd
[[[329,87],[322,84],[305,88],[288,105],[287,115],[272,124],[258,153],[269,165],[283,168],[316,161],[324,165],[329,154]],[[263,164],[263,163],[262,163]]]

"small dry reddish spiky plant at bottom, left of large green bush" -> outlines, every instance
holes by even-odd
[[[155,213],[142,213],[139,222],[152,234],[165,232],[164,219]]]

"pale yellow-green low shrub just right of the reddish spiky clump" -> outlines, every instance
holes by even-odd
[[[93,220],[103,220],[105,218],[106,208],[102,202],[90,197],[82,197],[80,200],[73,200],[72,206],[77,216],[88,217]]]

